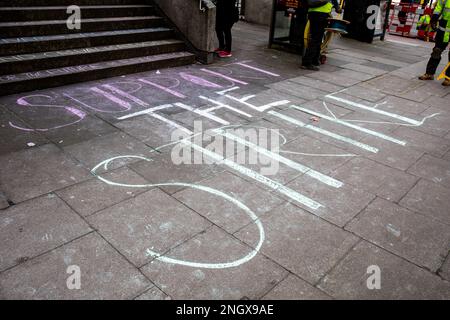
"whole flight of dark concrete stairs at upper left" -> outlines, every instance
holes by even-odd
[[[0,0],[0,95],[191,64],[186,50],[150,0]]]

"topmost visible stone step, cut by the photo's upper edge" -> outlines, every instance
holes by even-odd
[[[148,0],[51,0],[53,6],[148,4]],[[48,6],[48,0],[0,0],[0,7]]]

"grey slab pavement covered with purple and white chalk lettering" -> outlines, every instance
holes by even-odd
[[[432,44],[337,39],[307,72],[266,28],[234,35],[213,65],[0,98],[0,298],[450,298]],[[278,129],[279,170],[175,165],[161,146],[194,121]]]

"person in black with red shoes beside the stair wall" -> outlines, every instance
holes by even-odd
[[[219,40],[219,48],[215,52],[221,58],[232,57],[231,45],[233,36],[231,28],[239,19],[236,8],[236,0],[217,0],[216,2],[216,33]]]

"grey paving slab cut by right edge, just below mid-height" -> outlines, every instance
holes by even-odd
[[[424,216],[450,224],[450,190],[421,179],[400,205]]]

